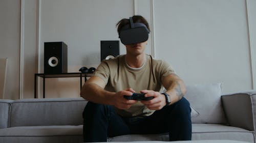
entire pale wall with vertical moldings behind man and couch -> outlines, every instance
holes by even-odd
[[[5,0],[0,2],[0,8],[0,19],[7,21],[0,26],[4,43],[0,56],[16,61],[8,61],[8,66],[15,69],[15,76],[8,73],[5,97],[9,99],[33,98],[34,73],[44,71],[44,42],[63,41],[68,45],[69,72],[78,72],[82,66],[97,67],[100,40],[118,40],[115,24],[134,14],[144,16],[154,30],[146,53],[172,64],[187,84],[222,82],[223,93],[253,88],[253,0]],[[16,9],[13,12],[8,8]],[[6,26],[12,29],[11,38],[6,35]],[[11,40],[14,42],[7,42]],[[125,53],[121,43],[120,51]],[[14,78],[20,79],[20,84]],[[41,96],[42,82],[39,84]],[[79,97],[79,79],[46,79],[46,97]]]

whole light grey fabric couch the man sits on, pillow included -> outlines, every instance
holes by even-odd
[[[187,86],[192,140],[255,141],[256,91],[221,94],[221,83]],[[82,142],[82,98],[0,100],[0,142]],[[168,140],[168,134],[122,135],[108,141]]]

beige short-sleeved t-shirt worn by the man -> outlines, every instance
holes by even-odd
[[[106,83],[105,90],[119,92],[132,88],[136,93],[141,90],[159,92],[164,76],[174,73],[172,67],[162,60],[155,60],[151,55],[145,55],[145,63],[141,68],[133,69],[126,64],[125,55],[115,59],[104,60],[98,66],[93,76],[98,76]],[[141,102],[137,102],[130,109],[115,108],[122,117],[150,116],[155,110],[150,110]]]

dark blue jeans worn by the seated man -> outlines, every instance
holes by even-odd
[[[189,102],[180,101],[156,110],[148,117],[123,118],[113,106],[88,102],[83,111],[84,142],[107,141],[107,137],[125,134],[169,133],[169,140],[191,140]]]

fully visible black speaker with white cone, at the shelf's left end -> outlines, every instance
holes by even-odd
[[[68,46],[64,42],[45,42],[44,73],[68,72]]]

